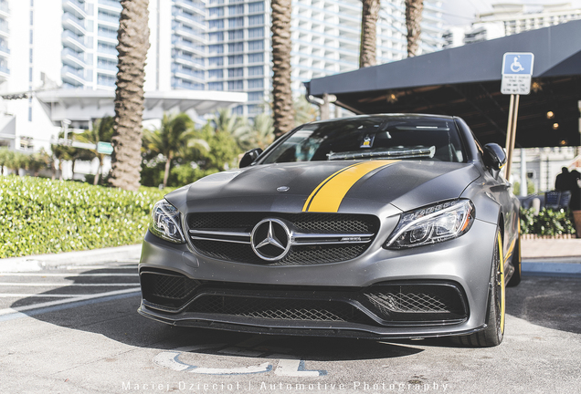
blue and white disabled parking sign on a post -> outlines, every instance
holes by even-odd
[[[507,52],[502,57],[502,94],[526,95],[531,92],[534,54]]]

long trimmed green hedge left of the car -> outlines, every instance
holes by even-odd
[[[138,244],[166,192],[0,176],[0,258]]]

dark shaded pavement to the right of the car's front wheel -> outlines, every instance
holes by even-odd
[[[581,334],[581,278],[527,276],[507,288],[506,313],[533,323]]]

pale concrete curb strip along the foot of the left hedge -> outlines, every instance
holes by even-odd
[[[36,254],[24,257],[11,257],[0,259],[0,273],[40,271],[43,268],[58,267],[65,264],[87,265],[139,260],[141,254],[142,245],[134,244],[61,254]]]

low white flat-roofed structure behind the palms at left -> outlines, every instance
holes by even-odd
[[[114,116],[112,90],[55,89],[37,91],[36,97],[55,125],[64,119],[90,121]],[[209,90],[146,91],[143,119],[162,119],[165,111],[185,112],[194,109],[197,115],[215,112],[218,108],[244,103],[247,93]]]

